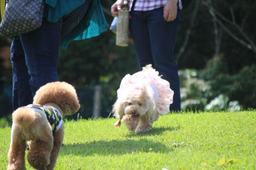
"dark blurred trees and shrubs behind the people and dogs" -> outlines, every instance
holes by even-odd
[[[101,1],[109,25],[114,0]],[[182,110],[256,108],[256,0],[193,0],[181,10],[175,46]],[[132,39],[115,45],[108,29],[59,52],[59,81],[75,86],[81,108],[73,118],[109,117],[122,78],[140,71]],[[0,37],[0,124],[11,122],[11,40]]]

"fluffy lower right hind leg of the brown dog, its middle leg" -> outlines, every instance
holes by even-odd
[[[30,141],[29,143],[28,162],[35,169],[46,170],[50,164],[50,155],[53,147],[52,139]]]

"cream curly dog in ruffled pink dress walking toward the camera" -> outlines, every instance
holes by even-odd
[[[152,128],[159,115],[169,112],[173,103],[174,91],[169,82],[158,76],[152,65],[146,65],[134,75],[126,75],[117,90],[117,101],[113,106],[117,128],[121,119],[129,131],[144,133]]]

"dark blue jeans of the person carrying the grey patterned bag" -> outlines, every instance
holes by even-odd
[[[31,104],[41,86],[58,81],[60,39],[77,26],[89,4],[86,1],[57,22],[43,19],[41,27],[12,41],[13,110]]]

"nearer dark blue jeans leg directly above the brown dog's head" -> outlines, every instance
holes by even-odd
[[[61,23],[43,19],[40,28],[20,35],[30,75],[32,96],[43,85],[58,81],[57,61]]]

